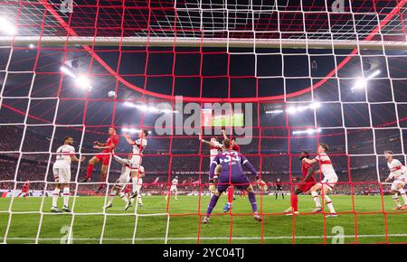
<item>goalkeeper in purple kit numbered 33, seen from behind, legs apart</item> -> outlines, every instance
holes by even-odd
[[[239,190],[248,192],[249,201],[251,202],[251,209],[253,210],[254,220],[261,221],[261,217],[257,212],[256,196],[253,192],[253,187],[251,182],[245,173],[243,173],[242,165],[248,168],[253,175],[256,176],[256,180],[259,181],[259,176],[250,164],[249,160],[244,157],[244,155],[229,150],[231,148],[231,142],[229,139],[224,139],[222,142],[223,151],[222,153],[216,155],[211,163],[211,168],[209,170],[209,183],[210,190],[213,192],[213,196],[208,205],[208,210],[206,211],[206,216],[204,217],[203,223],[209,222],[209,217],[216,206],[216,202],[219,200],[222,192],[225,192],[229,186],[233,185]],[[221,167],[221,172],[219,175],[218,187],[214,189],[214,182],[217,177],[214,175],[215,169]]]

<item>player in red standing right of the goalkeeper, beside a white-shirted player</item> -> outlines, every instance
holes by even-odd
[[[314,166],[308,164],[305,159],[309,159],[308,152],[302,152],[299,160],[301,160],[302,180],[291,193],[291,206],[287,211],[284,211],[288,216],[298,215],[298,194],[307,193],[317,181],[315,180]]]

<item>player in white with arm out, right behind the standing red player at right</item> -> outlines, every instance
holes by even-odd
[[[319,201],[319,196],[317,191],[320,191],[322,196],[324,197],[327,207],[329,209],[329,214],[327,214],[327,218],[337,217],[336,211],[334,209],[334,205],[332,204],[331,198],[327,195],[328,192],[334,189],[334,186],[337,182],[337,175],[334,169],[334,166],[331,163],[331,159],[327,155],[329,147],[326,144],[320,144],[318,146],[318,154],[317,157],[314,159],[304,158],[308,164],[319,164],[321,173],[324,174],[324,179],[321,182],[317,182],[309,192],[311,192],[311,196],[315,201],[316,208],[313,212],[321,212],[321,202]]]

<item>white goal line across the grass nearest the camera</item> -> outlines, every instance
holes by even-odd
[[[389,238],[402,238],[407,237],[407,234],[388,234]],[[338,236],[327,236],[327,239],[332,239]],[[355,235],[345,235],[345,239],[355,238]],[[372,239],[372,238],[384,238],[385,235],[358,235],[358,239]],[[3,240],[4,238],[0,238]],[[200,240],[229,240],[229,237],[203,237]],[[260,240],[260,237],[232,237],[232,240]],[[292,239],[292,236],[280,236],[280,237],[264,237],[263,239]],[[324,239],[324,236],[296,236],[295,239]],[[7,238],[7,240],[35,240],[35,238]],[[53,241],[61,239],[39,239],[41,241]],[[72,239],[77,241],[99,241],[100,239]],[[133,239],[103,239],[103,241],[132,241]],[[136,239],[136,241],[152,241],[152,240],[166,240],[166,238],[143,238]],[[196,238],[168,238],[167,240],[196,240]]]

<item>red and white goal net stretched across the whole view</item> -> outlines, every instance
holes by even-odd
[[[1,241],[407,242],[399,226],[405,194],[393,211],[384,158],[392,151],[406,161],[406,7],[406,0],[0,2]],[[127,211],[118,196],[103,209],[122,184],[122,165],[98,148],[110,127],[123,159],[140,155],[124,135],[136,141],[148,131],[141,198]],[[211,222],[202,222],[211,154],[199,137],[222,143],[222,130],[267,185],[244,170],[260,223],[237,185],[232,209],[222,211],[221,196]],[[71,163],[69,192],[57,192],[58,206],[68,196],[71,211],[55,213],[52,167],[66,136],[86,160]],[[311,212],[308,193],[298,197],[299,215],[286,216],[302,178],[299,156],[314,158],[319,144],[329,146],[338,177],[329,192],[338,216],[327,217],[324,197],[323,211]]]

